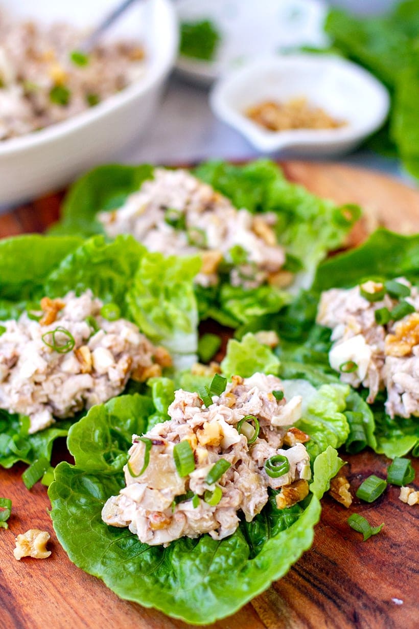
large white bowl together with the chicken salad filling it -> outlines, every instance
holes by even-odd
[[[171,3],[136,3],[85,50],[111,0],[0,3],[0,207],[63,186],[138,138],[177,52]]]

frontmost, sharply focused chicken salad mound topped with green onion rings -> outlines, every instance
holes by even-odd
[[[133,436],[126,487],[102,518],[129,526],[141,542],[167,545],[184,535],[232,535],[239,512],[247,521],[260,513],[269,487],[282,490],[278,508],[297,503],[311,478],[308,436],[291,427],[301,406],[301,396],[284,398],[280,379],[260,373],[233,376],[220,395],[179,389],[170,421]]]

